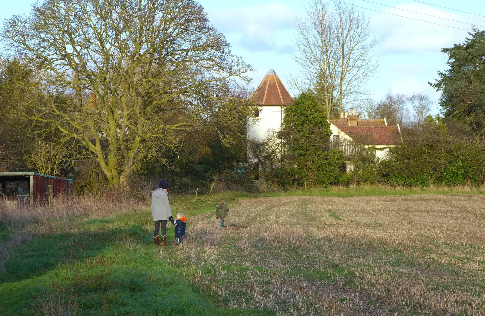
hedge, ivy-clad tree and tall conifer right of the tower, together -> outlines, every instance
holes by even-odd
[[[355,139],[351,154],[330,150],[327,117],[338,118],[320,101],[318,87],[287,107],[281,131],[251,144],[267,187],[311,187],[385,183],[393,186],[485,183],[485,32],[474,29],[463,44],[444,48],[449,68],[430,83],[442,95],[440,114],[426,95],[388,94],[355,105],[359,118],[387,118],[401,126],[402,145],[377,159],[365,140]],[[346,165],[352,172],[346,173]],[[268,183],[269,182],[269,183]]]

